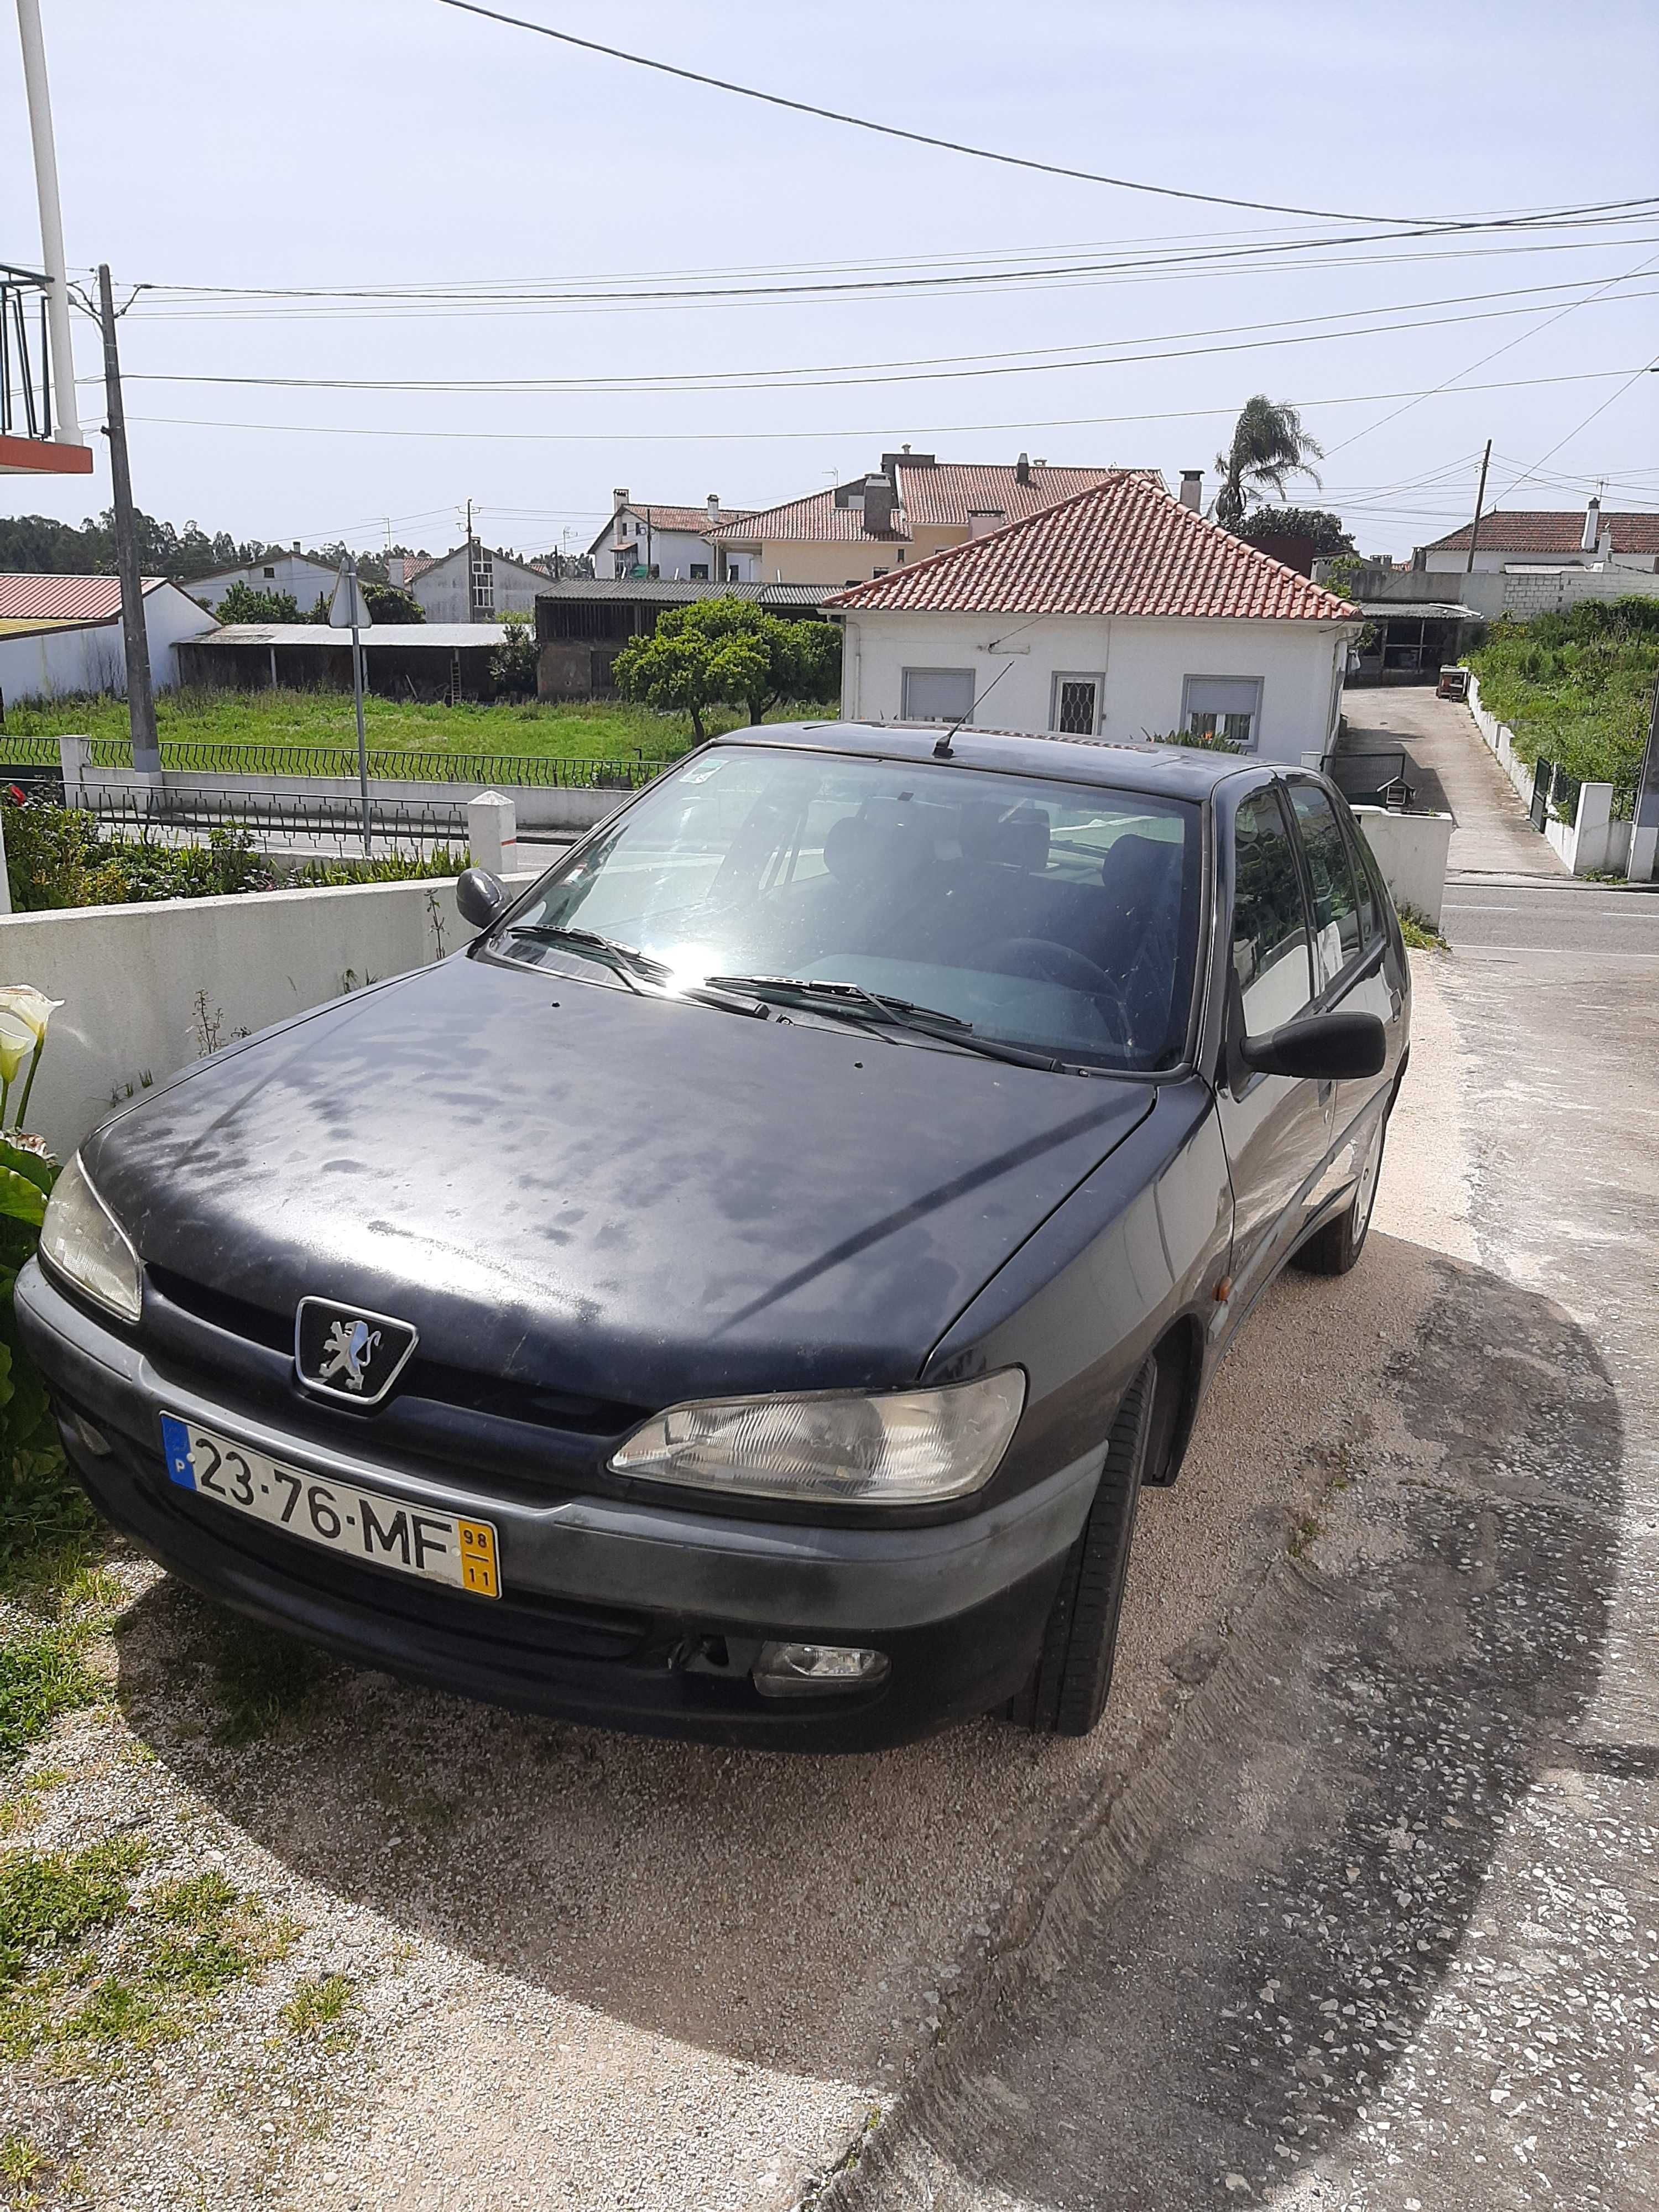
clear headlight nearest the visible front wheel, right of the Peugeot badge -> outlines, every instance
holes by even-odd
[[[933,1504],[991,1480],[1024,1402],[1024,1374],[1004,1367],[945,1389],[675,1405],[611,1467],[743,1498]]]

